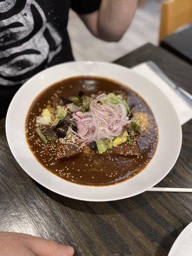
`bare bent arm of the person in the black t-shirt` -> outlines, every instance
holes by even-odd
[[[102,0],[98,11],[79,16],[93,35],[117,42],[129,28],[136,6],[137,0]]]

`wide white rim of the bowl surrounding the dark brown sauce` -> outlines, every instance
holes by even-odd
[[[111,186],[84,186],[57,177],[44,168],[28,147],[25,120],[35,97],[47,86],[72,76],[109,77],[138,92],[152,109],[159,129],[157,150],[147,167],[132,179]],[[12,154],[31,178],[60,195],[87,201],[111,201],[138,195],[162,180],[179,156],[182,132],[171,102],[155,84],[119,65],[69,62],[36,74],[13,98],[6,116],[6,136]]]

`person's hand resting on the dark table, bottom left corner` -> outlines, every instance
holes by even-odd
[[[74,248],[26,234],[0,232],[0,256],[72,256]]]

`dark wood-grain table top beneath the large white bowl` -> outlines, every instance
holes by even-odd
[[[182,88],[192,91],[192,67],[147,44],[115,61],[133,67],[152,60]],[[158,186],[192,186],[192,121],[182,126],[179,159]],[[167,156],[168,157],[168,156]],[[8,147],[0,122],[0,230],[24,232],[70,244],[75,255],[165,256],[191,221],[188,193],[145,192],[114,202],[81,202],[52,193],[33,181]]]

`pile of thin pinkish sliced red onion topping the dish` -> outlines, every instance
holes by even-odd
[[[120,135],[125,125],[130,123],[124,104],[110,104],[106,101],[106,94],[99,95],[90,103],[88,112],[77,111],[73,114],[77,124],[74,132],[84,142],[113,139]]]

